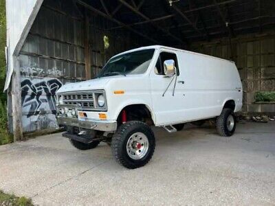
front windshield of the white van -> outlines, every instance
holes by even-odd
[[[97,78],[126,74],[144,73],[150,65],[155,49],[144,49],[115,56],[103,67]]]

